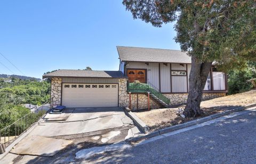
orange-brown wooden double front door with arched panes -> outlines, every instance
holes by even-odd
[[[131,83],[135,80],[146,83],[146,70],[127,70],[127,75]]]

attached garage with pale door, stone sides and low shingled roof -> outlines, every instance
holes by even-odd
[[[57,70],[43,75],[51,80],[51,106],[118,107],[121,71]]]

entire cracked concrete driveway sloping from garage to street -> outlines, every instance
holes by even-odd
[[[49,121],[49,119],[54,121]],[[54,119],[53,119],[54,118]],[[61,119],[58,119],[61,118]],[[46,137],[50,139],[73,141],[67,147],[54,152],[53,157],[33,156],[34,154],[9,153],[2,161],[6,163],[66,163],[75,158],[78,150],[123,141],[129,137],[141,134],[132,120],[127,117],[122,108],[68,108],[63,114],[47,114],[39,124],[23,140],[34,140],[35,137]],[[22,140],[21,140],[22,142]],[[20,142],[20,143],[21,143]],[[15,145],[14,149],[29,150],[38,152],[37,146],[29,144]],[[42,144],[42,143],[41,143]],[[23,146],[26,145],[26,148]],[[47,146],[52,144],[44,143],[44,149],[39,153],[45,154]]]

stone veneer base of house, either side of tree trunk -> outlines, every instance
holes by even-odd
[[[188,93],[164,94],[164,96],[171,100],[170,105],[181,105],[186,103],[188,99]],[[203,93],[202,99],[210,100],[222,96],[226,96],[226,93]]]

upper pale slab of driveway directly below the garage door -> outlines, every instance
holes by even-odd
[[[134,126],[122,108],[73,108],[66,120],[41,122],[30,135],[61,136],[104,131],[118,127]],[[56,114],[47,114],[53,115]],[[65,117],[59,115],[59,117]]]

